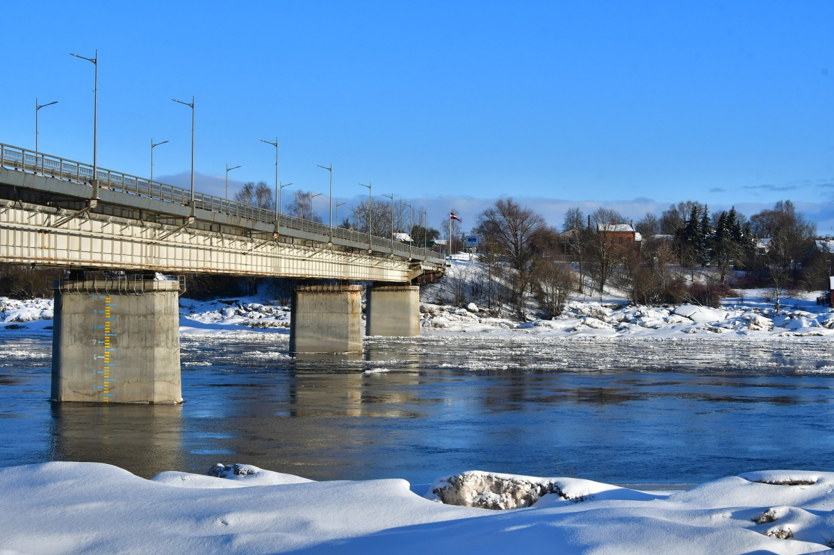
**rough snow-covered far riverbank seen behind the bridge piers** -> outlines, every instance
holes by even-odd
[[[816,305],[815,293],[791,299],[779,313],[761,298],[726,299],[721,308],[690,304],[641,307],[616,302],[570,301],[553,320],[515,322],[494,318],[474,304],[468,308],[422,303],[420,322],[425,335],[488,334],[493,338],[790,338],[834,335],[834,313]],[[52,329],[51,299],[18,301],[0,298],[0,331]],[[289,307],[263,298],[180,301],[182,333],[289,333]]]

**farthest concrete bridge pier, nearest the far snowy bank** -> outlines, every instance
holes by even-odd
[[[365,335],[389,338],[420,336],[420,288],[394,285],[368,288]]]

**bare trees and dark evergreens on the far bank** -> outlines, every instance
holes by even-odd
[[[622,240],[631,229],[641,241]],[[605,288],[638,304],[717,306],[733,288],[762,287],[776,308],[798,290],[828,288],[831,255],[812,248],[816,225],[791,201],[750,218],[686,201],[636,223],[611,208],[588,215],[570,208],[557,229],[506,198],[481,213],[473,231],[483,272],[452,280],[455,301],[480,298],[492,313],[509,307],[522,316],[532,296],[554,317],[570,293],[601,297]]]

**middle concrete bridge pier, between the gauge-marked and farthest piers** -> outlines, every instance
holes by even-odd
[[[289,353],[362,353],[362,288],[295,288],[290,307]]]

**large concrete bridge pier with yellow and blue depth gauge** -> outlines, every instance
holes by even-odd
[[[93,403],[182,403],[179,284],[56,283],[52,398]]]

